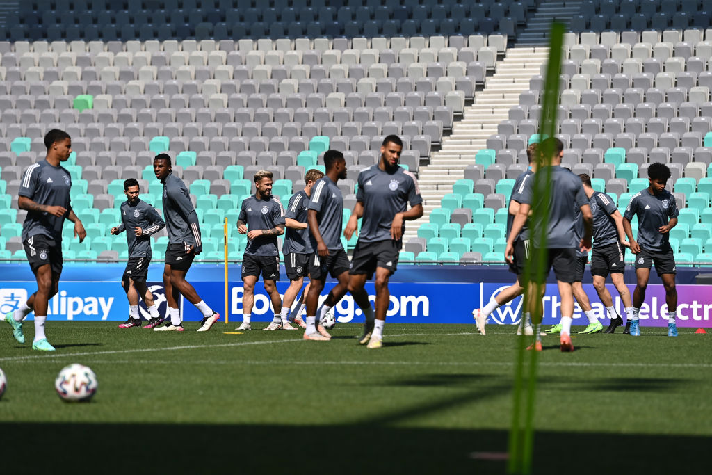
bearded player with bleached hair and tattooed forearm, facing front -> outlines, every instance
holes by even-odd
[[[252,329],[250,318],[255,301],[255,284],[261,273],[264,288],[274,308],[274,318],[263,330],[271,331],[282,328],[282,300],[276,281],[279,280],[277,236],[284,234],[284,208],[272,196],[272,172],[260,170],[254,180],[256,192],[242,202],[237,221],[237,231],[247,234],[247,247],[242,258],[243,320],[237,330]]]

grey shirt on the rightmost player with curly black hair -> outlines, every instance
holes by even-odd
[[[634,194],[623,216],[630,221],[636,214],[638,215],[638,244],[650,251],[670,249],[670,233],[662,234],[659,229],[680,214],[673,194],[666,189],[656,195],[650,194],[649,188]]]

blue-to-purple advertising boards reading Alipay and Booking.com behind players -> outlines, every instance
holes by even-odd
[[[122,321],[127,318],[128,304],[120,285],[124,266],[113,263],[95,263],[91,265],[66,264],[60,291],[49,304],[48,316],[53,320],[111,320]],[[229,318],[238,323],[242,319],[243,286],[239,280],[241,266],[229,266]],[[712,269],[707,269],[712,271]],[[678,282],[678,319],[680,327],[712,327],[712,293],[708,286],[690,285],[699,269],[679,269]],[[651,274],[651,283],[646,292],[646,303],[642,307],[640,318],[644,326],[666,326],[667,307],[665,291],[659,279]],[[36,290],[34,276],[28,266],[21,264],[0,264],[0,312],[14,310]],[[281,277],[286,278],[284,268]],[[188,274],[189,281],[201,298],[214,310],[224,313],[224,267],[211,264],[195,264]],[[590,276],[587,276],[590,281]],[[511,285],[513,276],[504,266],[407,266],[403,265],[394,274],[390,283],[391,304],[388,320],[394,323],[473,323],[471,310],[486,305],[491,296]],[[634,288],[634,272],[626,273],[629,289]],[[154,293],[162,315],[167,315],[167,305],[162,283],[162,265],[156,263],[150,267],[148,283]],[[335,285],[328,282],[323,293]],[[288,281],[278,281],[277,288],[284,293]],[[617,291],[608,286],[614,304],[619,313],[623,313],[622,303]],[[375,299],[372,283],[366,289],[370,298]],[[608,318],[591,283],[584,283],[592,308],[604,325]],[[142,305],[142,315],[148,313]],[[199,320],[201,315],[187,301],[182,301],[184,320]],[[555,283],[548,283],[547,296],[544,298],[545,325],[557,323],[560,306]],[[362,313],[347,294],[335,307],[335,317],[340,323],[362,321]],[[495,310],[488,323],[508,325],[518,323],[520,319],[521,298],[516,298],[506,306]],[[252,318],[255,321],[268,321],[272,318],[272,309],[268,296],[261,284],[256,286],[255,306]],[[223,319],[221,319],[224,321]],[[576,306],[575,325],[586,325],[585,315]]]

